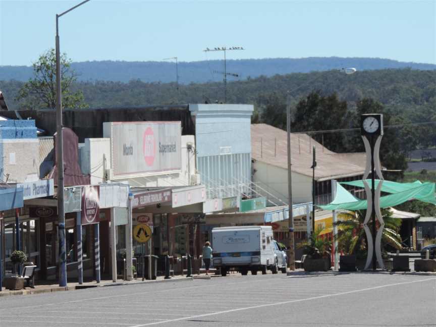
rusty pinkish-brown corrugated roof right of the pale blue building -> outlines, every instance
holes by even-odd
[[[316,148],[317,181],[362,175],[365,153],[335,153],[307,134],[291,134],[292,171],[312,176],[312,148]],[[288,169],[286,131],[267,124],[251,125],[251,156],[269,165]]]

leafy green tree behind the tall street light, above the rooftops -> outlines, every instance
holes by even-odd
[[[62,106],[64,108],[85,108],[83,92],[72,90],[77,75],[70,69],[71,59],[65,53],[61,56]],[[50,49],[39,56],[33,64],[33,78],[18,91],[16,100],[26,109],[56,107],[56,51]]]

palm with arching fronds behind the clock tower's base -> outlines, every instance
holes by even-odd
[[[381,209],[385,228],[381,236],[381,247],[386,250],[388,246],[394,249],[402,249],[401,237],[399,235],[401,220],[394,219],[389,209]],[[356,254],[358,257],[364,257],[366,252],[366,235],[363,229],[366,210],[357,210],[354,212],[341,213],[343,219],[336,222],[338,234],[335,240],[338,241],[338,251],[344,251],[346,254]],[[378,222],[377,222],[378,225]]]

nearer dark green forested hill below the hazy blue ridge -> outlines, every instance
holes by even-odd
[[[15,100],[24,82],[2,81],[2,90],[11,110],[24,109]],[[346,75],[339,71],[294,73],[273,77],[248,78],[227,84],[228,103],[252,103],[262,111],[267,103],[284,103],[287,91],[293,102],[311,91],[323,95],[336,92],[350,107],[359,99],[369,97],[398,112],[417,116],[427,108],[436,115],[436,70],[385,69],[357,71]],[[76,82],[73,90],[81,89],[89,107],[143,106],[175,103],[224,101],[224,83],[128,83],[95,81]],[[418,119],[417,117],[415,119]],[[415,119],[411,118],[412,121]]]

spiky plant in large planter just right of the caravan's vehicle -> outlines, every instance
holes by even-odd
[[[307,257],[303,262],[304,271],[327,271],[331,268],[330,251],[332,243],[319,236],[322,228],[316,229],[306,242],[298,244]]]

